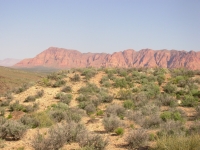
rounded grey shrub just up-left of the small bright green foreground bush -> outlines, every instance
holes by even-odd
[[[117,116],[111,115],[110,117],[103,118],[103,126],[106,132],[113,132],[118,127],[123,126],[123,124]]]

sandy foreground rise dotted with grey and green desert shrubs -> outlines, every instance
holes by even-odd
[[[0,148],[199,149],[199,81],[163,68],[48,74],[0,97]]]

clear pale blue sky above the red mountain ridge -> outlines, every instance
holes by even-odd
[[[199,8],[200,0],[0,0],[0,59],[52,46],[200,51]]]

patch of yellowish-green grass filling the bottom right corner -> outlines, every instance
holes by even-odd
[[[200,147],[200,136],[164,136],[157,141],[156,150],[198,150]]]

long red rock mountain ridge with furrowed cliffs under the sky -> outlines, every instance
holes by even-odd
[[[113,54],[81,53],[77,50],[50,47],[36,57],[24,59],[15,67],[164,67],[200,70],[200,52],[132,49]]]

